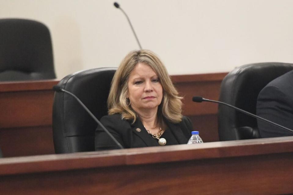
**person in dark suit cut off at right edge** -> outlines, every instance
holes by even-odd
[[[293,70],[274,79],[258,94],[256,114],[293,129]],[[258,120],[262,138],[291,136],[293,132]]]

